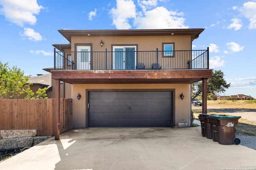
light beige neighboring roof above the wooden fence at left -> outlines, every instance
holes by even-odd
[[[49,89],[52,87],[52,74],[30,77],[28,83],[33,83],[33,85],[42,85]]]

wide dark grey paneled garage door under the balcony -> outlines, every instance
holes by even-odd
[[[171,127],[172,92],[88,92],[88,127]]]

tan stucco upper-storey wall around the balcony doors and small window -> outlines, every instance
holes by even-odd
[[[100,46],[100,41],[104,42],[104,46]],[[92,51],[113,51],[114,45],[135,45],[136,51],[164,51],[162,43],[174,43],[173,57],[163,57],[163,53],[158,53],[158,60],[162,68],[186,68],[188,60],[191,59],[191,53],[180,53],[180,50],[191,50],[190,35],[182,36],[139,36],[139,37],[72,37],[71,50],[76,51],[76,45],[92,44]],[[102,56],[102,57],[100,57]],[[181,58],[182,56],[182,58]],[[75,55],[73,55],[73,60]],[[113,61],[112,54],[108,53],[107,63]],[[144,63],[145,68],[151,68],[151,64],[156,60],[156,53],[137,53],[137,63]],[[105,54],[93,53],[92,69],[104,69]],[[150,62],[152,61],[152,62]],[[112,69],[111,64],[108,64],[107,69]]]

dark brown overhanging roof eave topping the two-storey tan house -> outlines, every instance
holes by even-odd
[[[109,30],[58,30],[71,43],[72,36],[114,37],[114,36],[163,36],[191,35],[191,41],[197,39],[204,31],[199,29],[109,29]],[[55,47],[55,46],[54,46]],[[58,49],[58,48],[57,48]]]

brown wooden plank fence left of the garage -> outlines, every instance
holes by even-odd
[[[54,136],[55,99],[1,99],[0,130],[36,129]],[[60,133],[73,128],[72,99],[60,99]]]

